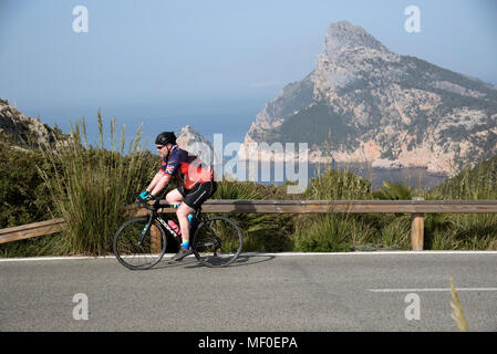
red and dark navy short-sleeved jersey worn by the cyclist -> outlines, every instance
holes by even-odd
[[[190,189],[197,183],[213,180],[213,169],[177,145],[173,146],[167,160],[163,160],[161,170],[166,175],[176,176],[186,189]]]

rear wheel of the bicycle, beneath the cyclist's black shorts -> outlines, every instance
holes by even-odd
[[[213,217],[198,225],[191,248],[200,263],[207,267],[226,267],[240,254],[241,246],[241,230],[235,221]]]

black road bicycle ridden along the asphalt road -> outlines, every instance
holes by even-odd
[[[151,269],[166,252],[169,240],[182,243],[182,236],[169,226],[170,220],[163,219],[158,209],[178,208],[178,205],[143,202],[138,207],[151,212],[125,221],[114,236],[113,249],[117,260],[132,270]],[[167,238],[166,232],[172,237]],[[190,223],[190,244],[196,259],[207,267],[227,267],[241,252],[242,235],[235,221],[225,217],[206,218],[199,208]]]

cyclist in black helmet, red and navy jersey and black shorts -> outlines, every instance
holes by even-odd
[[[166,195],[172,205],[179,205],[176,215],[182,230],[183,243],[173,260],[180,261],[191,254],[189,244],[188,215],[194,214],[204,201],[217,189],[213,169],[206,166],[197,156],[180,149],[176,145],[173,132],[163,132],[155,139],[163,163],[148,187],[139,195],[142,200],[154,199],[170,181],[173,176],[179,179],[180,186]]]

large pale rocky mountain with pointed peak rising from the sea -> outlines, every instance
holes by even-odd
[[[454,175],[497,154],[497,87],[393,53],[361,27],[335,22],[315,69],[257,115],[247,156],[260,155],[253,143],[262,142],[306,142],[310,162]]]

